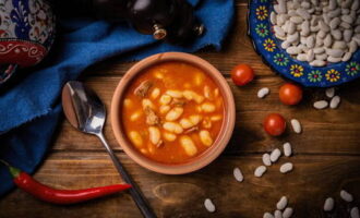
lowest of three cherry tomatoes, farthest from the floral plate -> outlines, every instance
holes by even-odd
[[[264,130],[273,136],[281,135],[286,128],[286,122],[279,113],[271,113],[264,120]]]

